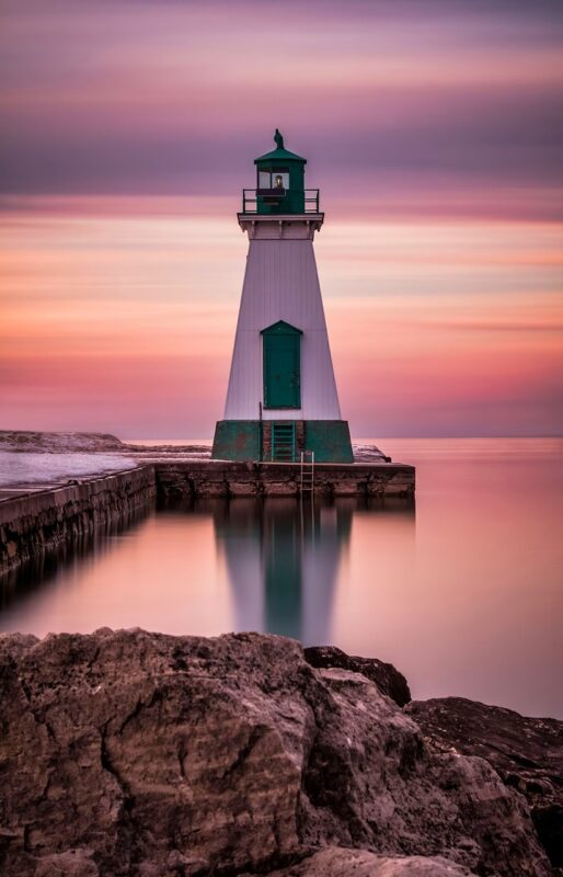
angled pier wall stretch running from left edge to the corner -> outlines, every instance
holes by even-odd
[[[154,468],[142,466],[0,502],[0,573],[101,526],[125,522],[156,494]]]

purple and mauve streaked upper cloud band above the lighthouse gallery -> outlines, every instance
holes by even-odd
[[[279,126],[348,209],[561,216],[556,2],[4,5],[7,192],[234,195]]]

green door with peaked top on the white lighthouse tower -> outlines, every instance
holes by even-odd
[[[263,329],[264,408],[301,408],[301,334],[283,320]]]

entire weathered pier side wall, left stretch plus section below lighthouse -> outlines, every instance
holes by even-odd
[[[412,501],[415,469],[400,463],[315,465],[313,494],[400,498]],[[13,488],[15,490],[15,488]],[[163,460],[122,472],[73,480],[0,500],[0,574],[93,534],[110,523],[124,523],[157,498],[197,500],[237,497],[299,497],[301,468],[294,463]],[[311,498],[311,491],[307,491]]]

